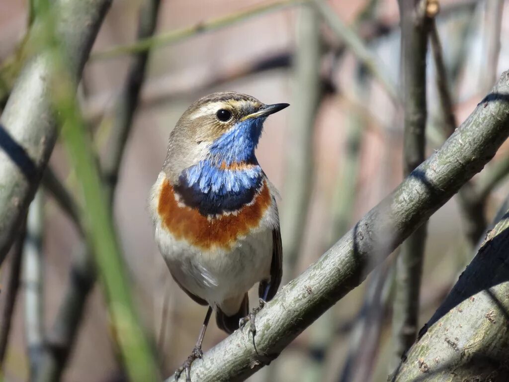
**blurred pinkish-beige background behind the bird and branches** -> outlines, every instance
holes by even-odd
[[[136,39],[142,0],[112,4],[84,69],[79,101],[100,155],[107,155],[114,113],[129,67],[128,56],[94,54]],[[276,2],[272,2],[276,3]],[[316,261],[360,216],[403,178],[403,114],[390,91],[400,86],[400,27],[395,0],[330,0],[331,22],[309,7],[257,0],[163,0],[157,33],[222,20],[151,50],[137,112],[125,148],[114,198],[117,232],[136,303],[156,339],[164,375],[173,374],[192,349],[206,308],[198,306],[169,276],[153,238],[147,198],[166,154],[168,134],[195,99],[215,91],[237,91],[265,103],[291,107],[265,123],[257,157],[280,194],[279,209],[288,281]],[[509,10],[503,1],[444,0],[437,28],[454,99],[463,122],[509,67]],[[27,29],[26,1],[0,2],[0,62],[5,65]],[[247,14],[251,16],[247,17]],[[237,15],[235,22],[225,16]],[[349,25],[369,48],[381,78],[362,52],[338,33]],[[500,45],[498,46],[498,42]],[[360,55],[360,56],[359,56]],[[428,53],[427,155],[441,146],[436,66]],[[395,94],[399,91],[396,90]],[[509,155],[506,147],[495,161]],[[50,159],[55,174],[73,192],[77,182],[66,150],[57,143]],[[502,174],[505,175],[505,174]],[[482,176],[482,174],[480,175]],[[484,204],[490,221],[507,195],[501,181]],[[500,185],[500,187],[498,187]],[[42,190],[44,328],[55,320],[69,282],[79,234],[51,193]],[[421,285],[420,319],[432,315],[472,256],[457,198],[430,220]],[[300,335],[269,367],[250,381],[379,381],[391,362],[391,258],[378,271]],[[6,284],[9,262],[2,267]],[[24,284],[15,306],[7,349],[6,380],[29,376],[23,317]],[[5,304],[4,293],[0,304]],[[252,297],[251,301],[256,301]],[[0,308],[2,309],[2,308]],[[225,334],[211,321],[204,350]],[[105,302],[96,285],[88,298],[65,381],[114,381],[120,373]]]

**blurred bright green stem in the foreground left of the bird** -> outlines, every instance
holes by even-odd
[[[39,16],[39,15],[38,15]],[[153,348],[135,310],[130,281],[102,188],[93,144],[80,115],[64,49],[54,30],[53,14],[45,14],[46,50],[51,60],[51,104],[63,125],[62,138],[84,199],[84,228],[103,285],[112,330],[128,375],[134,381],[157,380]]]

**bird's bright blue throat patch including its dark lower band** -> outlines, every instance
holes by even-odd
[[[265,174],[254,156],[265,119],[246,120],[210,145],[211,159],[185,169],[174,187],[202,215],[232,212],[250,203]],[[251,165],[238,169],[235,163]]]

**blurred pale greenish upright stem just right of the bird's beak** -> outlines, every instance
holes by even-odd
[[[314,7],[299,10],[295,59],[294,112],[292,133],[286,158],[286,178],[281,208],[286,281],[295,276],[299,251],[307,222],[309,199],[313,190],[315,119],[322,99],[320,64],[322,59],[320,20]]]

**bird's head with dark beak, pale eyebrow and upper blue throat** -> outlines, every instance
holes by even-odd
[[[177,179],[181,171],[203,160],[217,166],[256,163],[254,149],[263,122],[288,103],[267,105],[236,92],[205,96],[184,112],[172,131],[164,163],[166,174]]]

